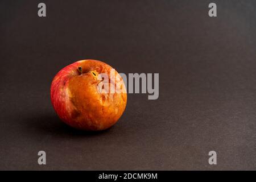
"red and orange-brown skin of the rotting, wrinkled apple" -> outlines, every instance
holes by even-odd
[[[98,92],[95,76],[106,73],[110,78],[111,69],[98,60],[81,60],[57,73],[51,84],[51,102],[63,122],[80,130],[100,131],[118,121],[126,107],[127,93]],[[117,71],[114,79],[115,85],[123,84]]]

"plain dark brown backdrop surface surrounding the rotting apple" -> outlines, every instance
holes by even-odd
[[[1,1],[0,169],[256,169],[256,2],[214,1],[217,18],[210,2]],[[49,87],[81,59],[159,73],[159,99],[129,94],[102,133],[69,128]]]

